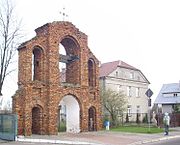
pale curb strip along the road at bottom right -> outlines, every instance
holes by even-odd
[[[154,143],[154,142],[169,140],[169,139],[174,139],[174,138],[180,138],[180,135],[161,137],[161,138],[156,138],[156,139],[152,139],[152,140],[138,141],[138,142],[134,142],[134,143],[131,143],[128,145],[141,145],[141,144]]]

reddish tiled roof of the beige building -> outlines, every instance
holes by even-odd
[[[118,61],[107,62],[107,63],[101,64],[100,69],[99,69],[99,77],[108,76],[117,67],[138,70],[137,68],[125,63],[124,61],[118,60]]]

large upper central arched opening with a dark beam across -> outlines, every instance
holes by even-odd
[[[65,51],[62,54],[61,49]],[[79,84],[80,83],[80,67],[79,67],[79,45],[77,41],[71,36],[66,36],[61,40],[59,45],[59,68],[63,68],[63,65],[66,66],[64,72],[61,72],[60,78],[63,78],[62,83],[68,84]],[[65,77],[63,77],[63,76]]]

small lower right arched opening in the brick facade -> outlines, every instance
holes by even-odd
[[[95,107],[90,107],[88,110],[88,128],[89,131],[96,131],[97,124],[96,124],[96,109]]]

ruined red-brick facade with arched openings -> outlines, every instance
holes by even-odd
[[[35,31],[18,49],[18,90],[13,96],[18,134],[57,134],[59,103],[66,95],[79,104],[80,131],[101,129],[99,62],[87,46],[87,35],[70,22],[47,23]],[[66,51],[63,83],[59,44]]]

